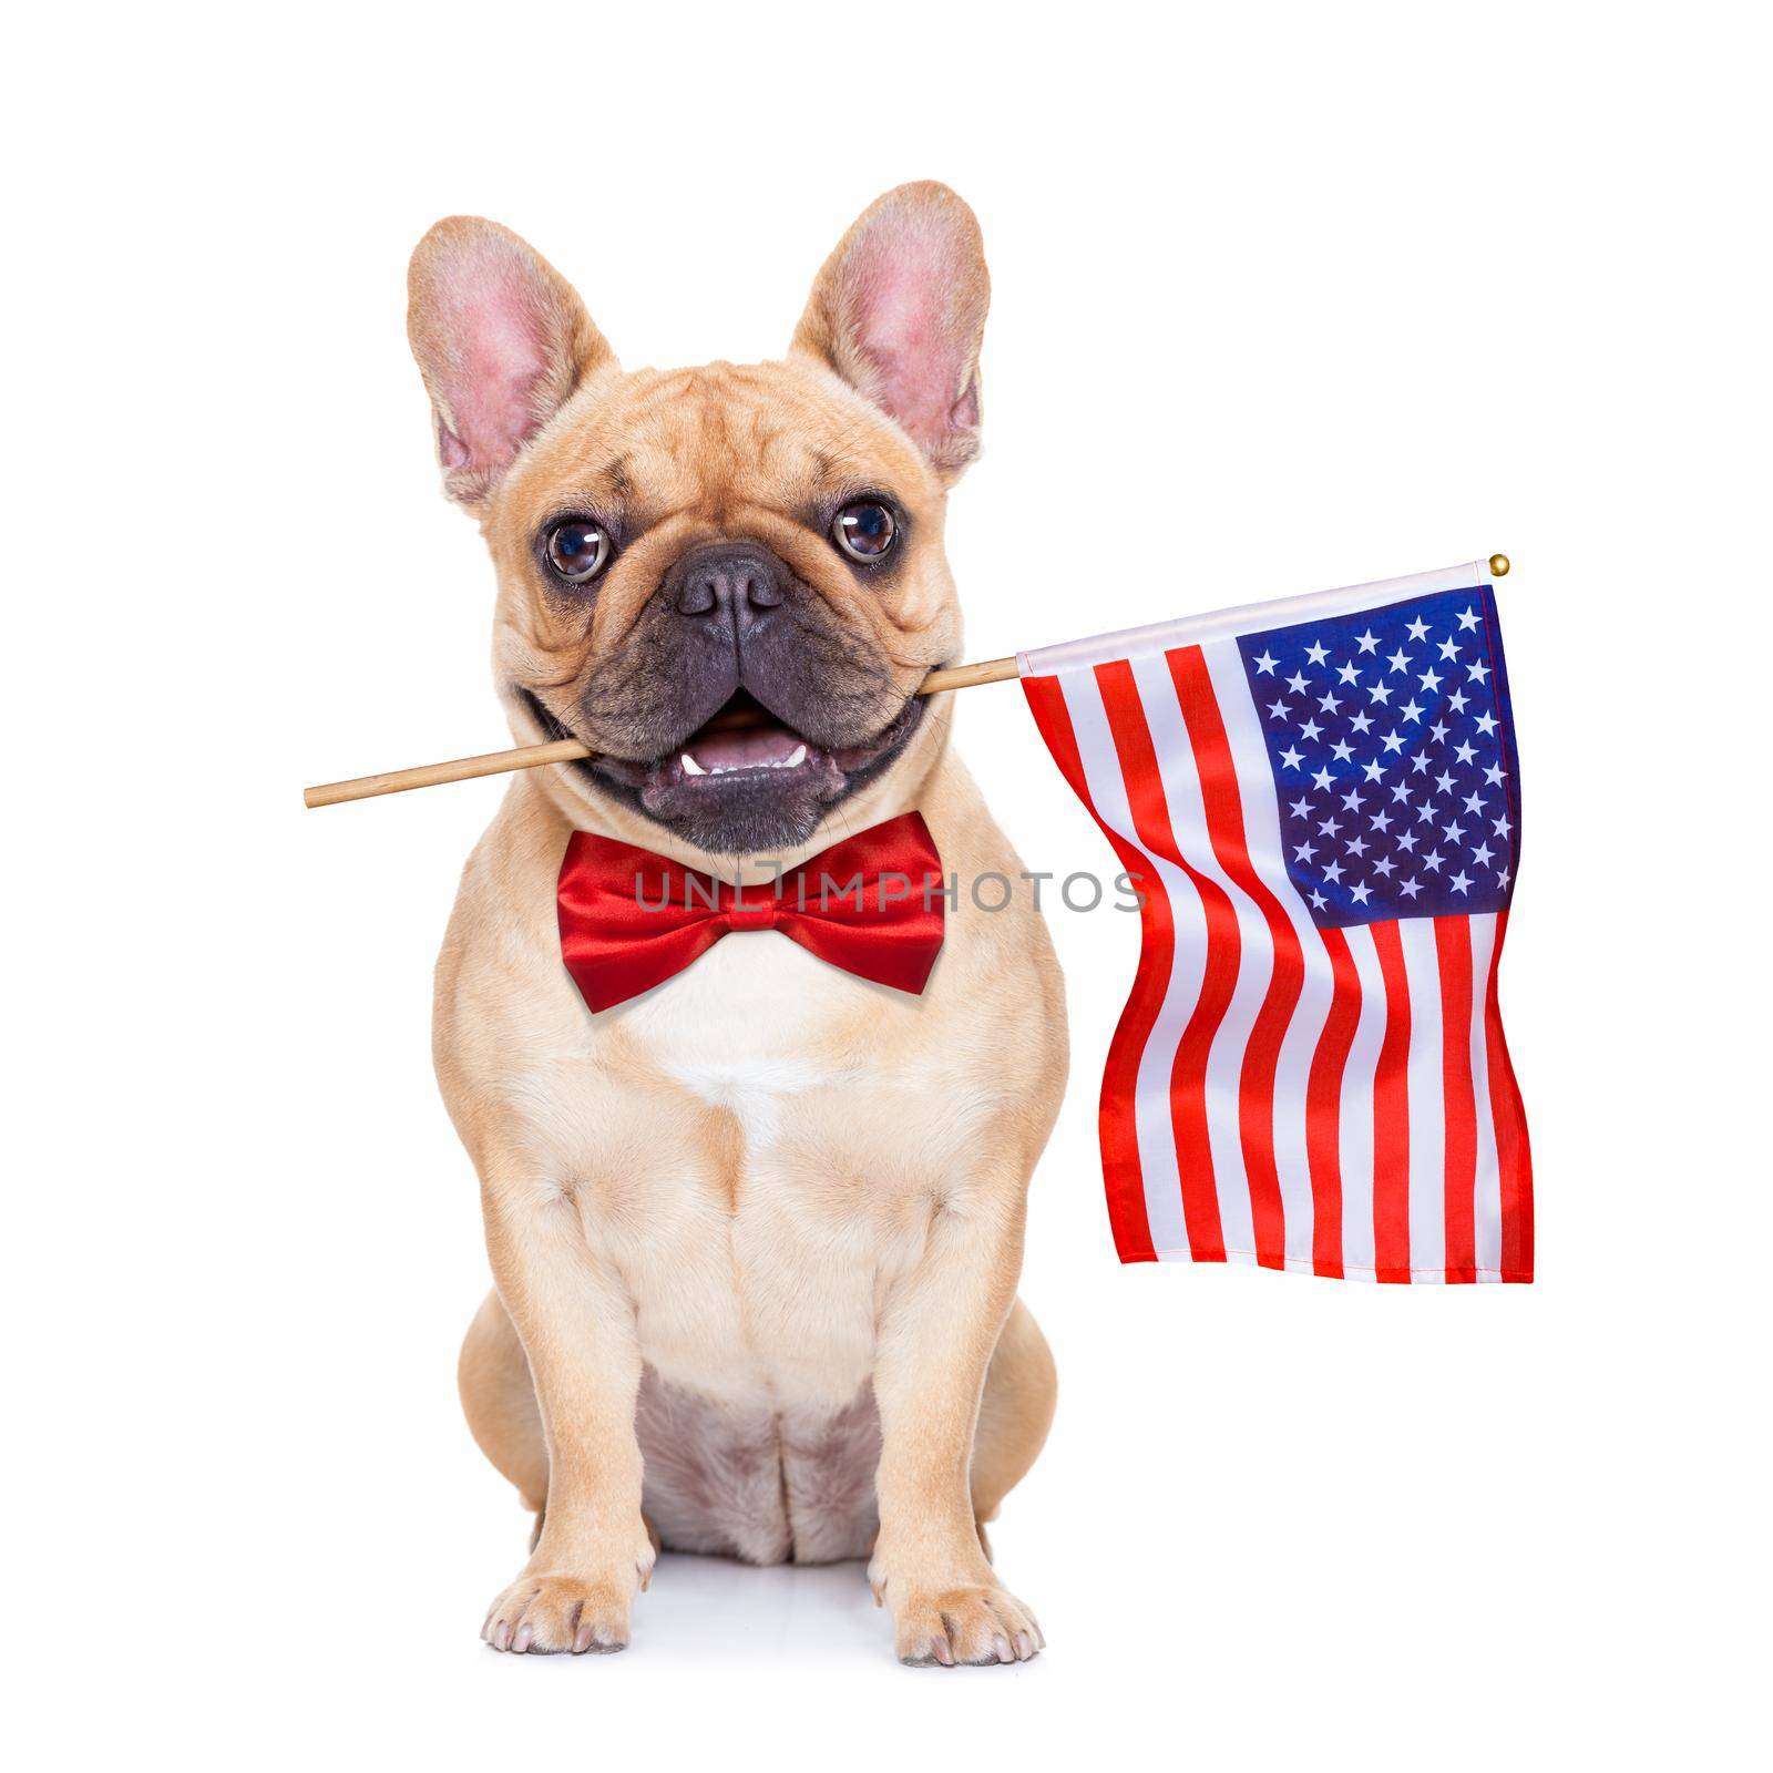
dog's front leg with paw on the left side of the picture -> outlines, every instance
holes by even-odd
[[[482,1195],[493,1278],[528,1355],[548,1440],[548,1507],[534,1555],[480,1635],[502,1651],[619,1651],[652,1571],[633,1303],[558,1188],[512,1167],[495,1170]]]

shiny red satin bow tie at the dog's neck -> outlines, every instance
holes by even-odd
[[[574,832],[560,863],[560,954],[594,1011],[663,984],[736,929],[777,929],[821,961],[917,995],[941,950],[943,904],[920,812],[745,888]]]

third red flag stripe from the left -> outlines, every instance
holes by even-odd
[[[1280,1043],[1287,1035],[1300,991],[1305,988],[1305,952],[1293,918],[1268,890],[1250,862],[1250,840],[1243,828],[1243,796],[1238,793],[1238,766],[1232,762],[1225,718],[1213,693],[1213,677],[1200,647],[1177,647],[1165,654],[1183,723],[1193,746],[1200,777],[1200,803],[1207,816],[1207,837],[1220,867],[1241,886],[1268,924],[1275,965],[1268,993],[1250,1028],[1238,1073],[1238,1136],[1243,1144],[1243,1168],[1250,1183],[1250,1220],[1255,1225],[1255,1259],[1262,1268],[1287,1266],[1287,1218],[1280,1197],[1280,1172],[1275,1167],[1275,1067]]]

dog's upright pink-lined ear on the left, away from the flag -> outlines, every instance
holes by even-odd
[[[573,285],[480,216],[449,216],[426,234],[406,294],[443,489],[472,511],[573,392],[615,367],[615,355]]]

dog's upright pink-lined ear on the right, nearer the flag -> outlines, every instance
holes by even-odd
[[[824,261],[791,349],[828,363],[892,415],[952,482],[979,454],[989,301],[972,209],[947,184],[901,184]]]

